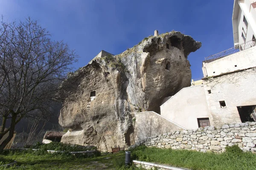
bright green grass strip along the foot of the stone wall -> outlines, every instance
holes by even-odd
[[[192,170],[255,170],[256,154],[244,153],[236,145],[224,153],[201,153],[192,150],[160,149],[140,146],[131,151],[140,161],[170,164]]]

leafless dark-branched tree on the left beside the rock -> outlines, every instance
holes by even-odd
[[[50,34],[31,18],[25,22],[0,23],[0,151],[12,139],[15,125],[24,117],[44,118],[75,51],[64,42],[50,40]],[[6,121],[10,126],[6,127]],[[6,128],[6,129],[5,129]]]

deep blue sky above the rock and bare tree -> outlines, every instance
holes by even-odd
[[[203,77],[204,57],[233,47],[233,0],[0,0],[5,20],[39,20],[76,49],[87,65],[101,50],[119,54],[144,37],[172,30],[192,36],[202,47],[188,57],[192,79]]]

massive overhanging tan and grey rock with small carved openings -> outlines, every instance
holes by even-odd
[[[169,32],[145,38],[122,54],[98,54],[63,82],[67,96],[59,123],[61,142],[111,146],[134,144],[134,113],[159,111],[167,96],[190,86],[187,57],[201,47],[190,36]]]

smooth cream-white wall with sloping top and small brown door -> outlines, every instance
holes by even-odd
[[[186,129],[196,129],[198,118],[210,117],[204,85],[183,88],[161,105],[160,109],[162,116]]]

